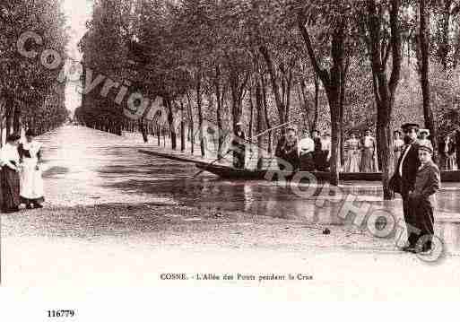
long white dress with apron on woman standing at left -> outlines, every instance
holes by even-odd
[[[42,170],[36,169],[39,162],[41,144],[37,141],[22,144],[21,197],[25,202],[43,202]]]

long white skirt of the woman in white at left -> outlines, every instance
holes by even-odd
[[[43,197],[43,178],[41,178],[41,170],[36,170],[36,166],[37,159],[23,159],[22,171],[20,174],[20,196],[24,204],[42,203],[45,201]]]

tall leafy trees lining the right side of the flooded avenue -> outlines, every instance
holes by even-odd
[[[389,198],[392,131],[415,121],[436,137],[458,124],[459,12],[454,0],[97,0],[82,64],[161,97],[173,148],[175,108],[180,137],[197,132],[203,155],[205,120],[217,126],[219,155],[220,134],[238,121],[249,137],[289,121],[330,130],[333,184],[344,136],[375,126]],[[78,115],[120,134],[126,101],[101,95],[104,84],[83,95]],[[163,126],[145,123],[143,132]],[[257,142],[268,152],[271,136]]]

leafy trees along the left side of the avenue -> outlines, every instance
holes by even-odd
[[[0,30],[0,136],[4,128],[6,135],[19,134],[22,127],[41,134],[60,126],[69,117],[65,83],[57,81],[61,68],[49,69],[40,59],[45,49],[54,49],[64,61],[67,34],[60,1],[2,1]],[[37,57],[24,57],[18,48],[25,32],[42,39],[41,44],[33,39],[24,44]]]

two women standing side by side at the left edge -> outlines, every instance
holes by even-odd
[[[0,205],[4,213],[19,211],[21,204],[27,209],[41,208],[44,202],[41,177],[41,144],[28,130],[25,141],[20,135],[8,135],[0,150]]]

